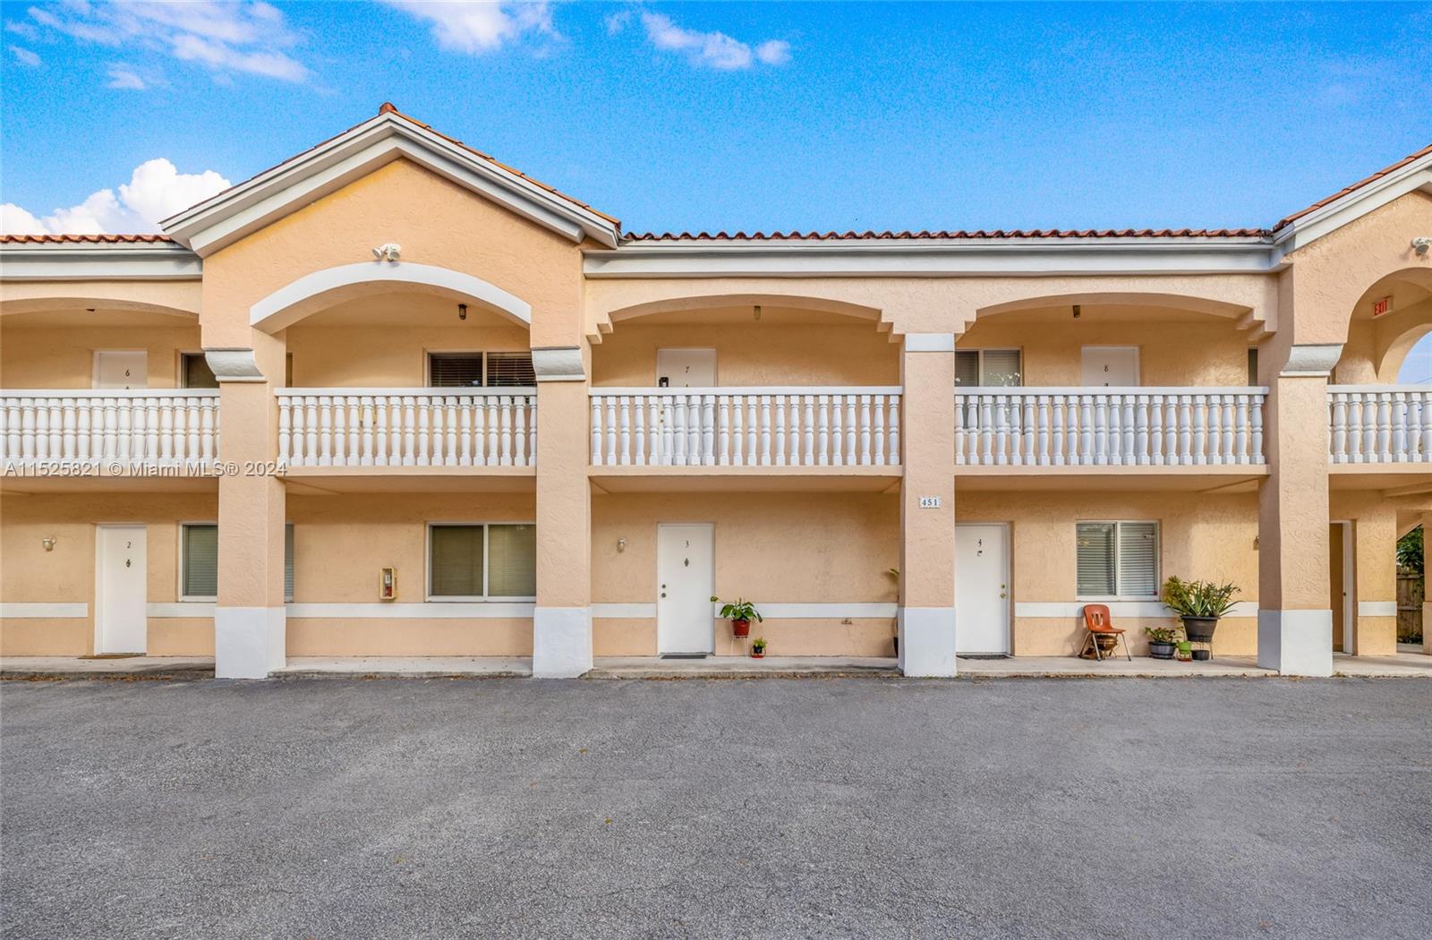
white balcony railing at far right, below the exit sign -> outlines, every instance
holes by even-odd
[[[1329,385],[1329,457],[1333,463],[1432,460],[1432,388]]]

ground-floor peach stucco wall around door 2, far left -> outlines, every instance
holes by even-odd
[[[84,618],[0,622],[0,653],[84,656],[95,651],[95,524],[145,523],[147,602],[179,599],[179,523],[213,522],[213,493],[54,493],[0,497],[0,600],[86,603]],[[46,552],[42,539],[54,537]],[[213,655],[211,618],[149,618],[152,656]]]

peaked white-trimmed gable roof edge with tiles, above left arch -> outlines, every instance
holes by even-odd
[[[209,255],[395,159],[410,159],[573,242],[614,248],[621,224],[384,102],[375,118],[163,222],[165,234]]]

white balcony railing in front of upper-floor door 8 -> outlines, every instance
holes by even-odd
[[[1260,464],[1266,397],[1266,388],[959,390],[955,463]]]

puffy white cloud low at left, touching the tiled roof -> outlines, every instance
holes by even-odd
[[[137,76],[135,76],[137,79]],[[229,181],[206,169],[202,173],[180,173],[165,158],[145,160],[135,168],[127,183],[90,193],[84,202],[67,209],[54,209],[40,218],[29,209],[7,202],[0,206],[3,235],[130,235],[158,232],[159,221],[188,209],[216,192],[229,188]]]

